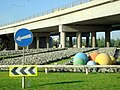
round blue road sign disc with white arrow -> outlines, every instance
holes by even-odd
[[[30,30],[22,28],[15,33],[14,40],[19,46],[25,47],[32,43],[33,34]]]

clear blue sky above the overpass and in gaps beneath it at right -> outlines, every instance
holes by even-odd
[[[0,25],[76,1],[78,0],[0,0]],[[97,36],[102,37],[104,33],[98,33]],[[113,39],[120,38],[120,30],[112,32],[111,37]]]

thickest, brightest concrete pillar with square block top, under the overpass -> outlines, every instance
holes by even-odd
[[[63,31],[63,25],[59,25],[59,32],[60,32],[60,47],[65,48],[65,40],[66,40],[66,33]]]

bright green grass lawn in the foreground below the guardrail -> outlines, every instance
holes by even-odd
[[[0,72],[0,90],[21,90],[21,77]],[[119,73],[48,73],[26,77],[25,90],[120,90]]]

